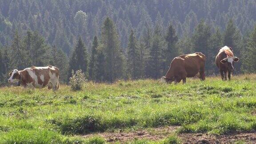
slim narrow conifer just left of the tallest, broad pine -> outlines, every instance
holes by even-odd
[[[97,36],[94,36],[92,42],[92,53],[91,53],[91,60],[89,66],[89,77],[91,80],[96,80],[95,70],[96,70],[96,57],[97,57],[97,48],[99,46]]]

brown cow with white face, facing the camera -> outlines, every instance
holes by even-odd
[[[235,57],[233,54],[233,49],[227,46],[219,48],[219,53],[216,56],[216,65],[220,69],[220,75],[222,80],[230,80],[231,72],[234,71],[234,62],[237,62],[239,58]]]

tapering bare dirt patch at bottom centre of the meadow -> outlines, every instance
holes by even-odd
[[[127,142],[132,140],[162,140],[166,138],[168,135],[173,134],[179,126],[169,126],[169,127],[160,127],[160,128],[152,128],[147,130],[139,130],[135,132],[103,132],[103,133],[95,133],[84,135],[84,137],[92,137],[92,136],[101,136],[107,142]]]

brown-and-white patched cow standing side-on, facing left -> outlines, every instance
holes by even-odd
[[[48,89],[52,88],[53,91],[59,88],[59,69],[51,65],[25,68],[22,71],[14,69],[9,73],[9,76],[11,76],[8,79],[9,83],[20,82],[24,88],[44,88],[48,86]]]

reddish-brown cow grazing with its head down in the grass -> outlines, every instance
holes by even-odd
[[[160,80],[175,84],[181,80],[186,83],[187,77],[194,77],[199,72],[200,79],[205,80],[204,64],[206,57],[201,52],[177,56],[172,60],[170,68]]]

